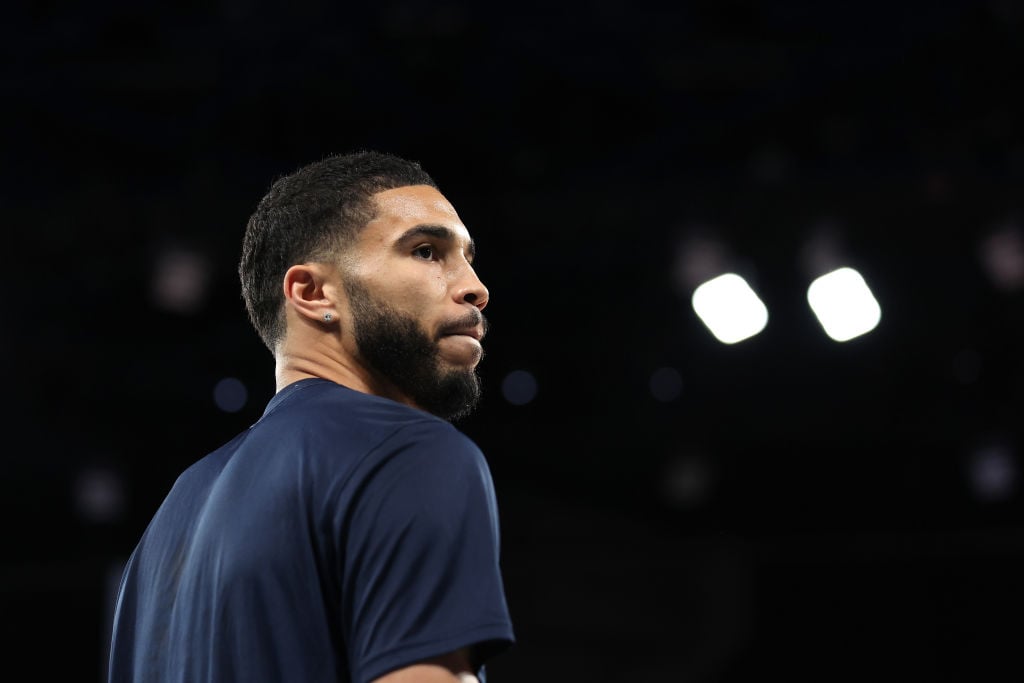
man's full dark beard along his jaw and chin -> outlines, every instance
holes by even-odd
[[[419,322],[383,301],[352,278],[344,281],[352,309],[352,335],[371,370],[427,413],[455,422],[480,402],[476,368],[444,369],[436,339]]]

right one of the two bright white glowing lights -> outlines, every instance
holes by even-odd
[[[870,332],[882,319],[879,302],[853,268],[839,268],[815,280],[807,288],[807,302],[825,334],[839,342]]]

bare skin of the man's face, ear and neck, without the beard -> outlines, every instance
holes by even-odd
[[[416,319],[436,344],[440,370],[454,372],[473,372],[483,356],[479,311],[487,305],[487,289],[472,266],[469,231],[439,191],[412,185],[373,199],[377,215],[342,263],[303,263],[285,273],[287,333],[274,354],[276,386],[321,377],[422,409],[365,359],[343,279],[357,280],[377,300]],[[427,231],[436,228],[447,237]]]

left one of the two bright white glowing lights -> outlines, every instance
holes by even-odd
[[[768,309],[733,272],[713,278],[693,290],[693,310],[723,344],[735,344],[764,330]]]

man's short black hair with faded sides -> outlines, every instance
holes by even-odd
[[[249,218],[239,263],[249,319],[271,353],[285,336],[288,268],[336,260],[374,218],[373,195],[409,185],[437,188],[419,163],[373,151],[332,155],[274,180]]]

